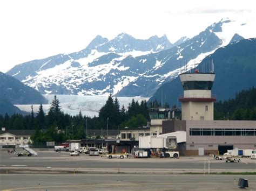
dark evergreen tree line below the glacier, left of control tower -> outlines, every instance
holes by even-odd
[[[134,101],[127,109],[124,105],[120,107],[117,98],[110,95],[105,105],[99,110],[98,117],[83,116],[80,111],[78,115],[71,116],[64,114],[60,102],[55,96],[52,100],[47,114],[43,105],[39,106],[38,112],[31,112],[29,115],[14,114],[9,116],[0,115],[0,126],[6,130],[36,130],[32,137],[34,143],[43,141],[64,142],[67,139],[85,139],[85,129],[123,129],[128,126],[130,129],[138,126],[146,126],[149,120],[149,108],[147,102]],[[71,135],[71,137],[70,137]]]

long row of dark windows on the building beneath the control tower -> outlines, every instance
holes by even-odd
[[[190,136],[256,136],[256,129],[190,129]]]

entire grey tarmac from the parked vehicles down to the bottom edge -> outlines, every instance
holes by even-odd
[[[17,157],[0,151],[3,190],[239,190],[246,178],[256,190],[256,160],[241,162],[212,157],[109,159],[69,152],[39,151]],[[210,164],[210,166],[209,166]],[[234,173],[234,174],[221,174]],[[242,173],[242,174],[237,174]],[[253,175],[250,175],[252,173]]]

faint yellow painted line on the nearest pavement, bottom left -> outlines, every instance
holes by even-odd
[[[110,183],[110,184],[102,184],[102,185],[65,185],[65,186],[35,186],[35,187],[24,187],[24,188],[12,188],[12,189],[4,189],[3,191],[11,191],[11,190],[26,190],[26,189],[43,189],[43,188],[78,188],[78,187],[104,187],[104,186],[141,186],[141,185],[173,185],[173,183]]]

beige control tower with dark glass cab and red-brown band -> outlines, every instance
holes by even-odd
[[[213,120],[213,102],[216,98],[212,97],[211,90],[215,74],[199,73],[196,69],[179,77],[184,90],[184,96],[179,98],[182,120]]]

